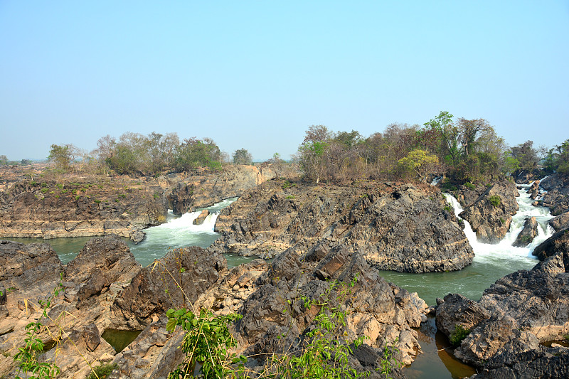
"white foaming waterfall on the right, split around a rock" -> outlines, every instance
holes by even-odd
[[[464,234],[467,236],[472,250],[474,250],[474,261],[482,262],[484,260],[494,260],[496,257],[501,258],[513,258],[513,259],[532,259],[535,260],[536,257],[531,255],[533,249],[536,248],[541,242],[548,239],[553,235],[553,228],[548,225],[548,221],[553,218],[549,209],[546,207],[536,207],[531,205],[533,200],[529,198],[529,194],[526,193],[527,189],[531,184],[522,185],[521,189],[518,190],[520,196],[516,198],[519,205],[519,211],[514,216],[512,216],[512,221],[508,233],[504,236],[496,245],[491,245],[487,243],[482,243],[477,240],[476,233],[472,230],[470,224],[467,220],[464,220]],[[447,201],[454,208],[454,214],[459,217],[459,213],[462,212],[462,206],[457,201],[454,196],[450,193],[443,193]],[[523,229],[523,223],[525,223],[527,218],[534,216],[538,221],[538,235],[533,239],[530,245],[526,247],[514,247],[511,244],[516,240],[516,237]]]

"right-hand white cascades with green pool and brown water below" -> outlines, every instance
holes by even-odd
[[[432,272],[429,274],[405,274],[399,272],[382,272],[382,276],[409,291],[416,291],[428,304],[435,304],[437,297],[448,293],[463,294],[477,300],[492,283],[518,269],[531,269],[538,260],[531,255],[533,249],[553,234],[548,220],[553,216],[548,208],[531,205],[533,200],[526,193],[527,186],[521,186],[520,196],[516,198],[519,211],[512,217],[510,230],[501,242],[490,245],[478,242],[476,233],[470,224],[464,220],[464,234],[467,236],[474,260],[472,265],[458,272]],[[462,206],[449,193],[445,198],[454,208],[458,216]],[[538,221],[538,235],[526,247],[514,247],[512,242],[523,229],[526,218],[535,216]],[[419,339],[423,353],[417,356],[415,362],[405,369],[405,375],[410,379],[442,379],[463,378],[474,374],[474,369],[458,361],[452,355],[447,338],[436,331],[435,320],[430,318],[421,325]]]

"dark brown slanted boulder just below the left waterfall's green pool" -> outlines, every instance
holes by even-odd
[[[153,267],[141,269],[113,307],[124,316],[126,326],[143,329],[152,316],[196,301],[226,268],[223,255],[207,254],[201,247],[171,250]]]

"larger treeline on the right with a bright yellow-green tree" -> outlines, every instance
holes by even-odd
[[[541,163],[569,174],[569,140],[546,149],[528,141],[509,147],[486,119],[453,119],[440,112],[420,125],[390,124],[383,133],[331,132],[312,125],[299,146],[297,161],[312,181],[389,178],[429,181],[446,176],[465,183],[497,174],[532,171]]]

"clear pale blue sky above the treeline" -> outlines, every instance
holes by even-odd
[[[569,139],[569,1],[0,0],[0,155],[107,134],[256,160],[310,125],[363,136],[445,110],[511,146]]]

